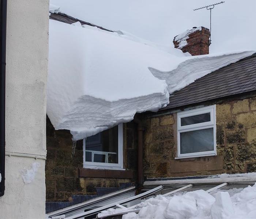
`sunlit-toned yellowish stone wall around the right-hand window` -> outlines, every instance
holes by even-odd
[[[144,176],[256,171],[256,97],[216,105],[217,155],[174,160],[177,114],[144,119]]]

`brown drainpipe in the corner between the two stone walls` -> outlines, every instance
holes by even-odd
[[[133,121],[138,124],[138,185],[139,187],[144,183],[143,176],[143,124],[138,115],[134,116]]]

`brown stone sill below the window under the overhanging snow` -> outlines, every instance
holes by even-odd
[[[134,178],[132,170],[79,168],[79,177],[94,178]]]

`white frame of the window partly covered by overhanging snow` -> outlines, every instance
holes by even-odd
[[[83,139],[83,167],[87,169],[123,169],[123,123],[118,125],[118,164],[85,161],[86,139]],[[106,154],[98,151],[98,154]]]

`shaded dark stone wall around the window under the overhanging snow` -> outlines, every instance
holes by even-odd
[[[137,170],[136,125],[124,124],[124,168]],[[122,183],[134,183],[136,178],[79,177],[83,168],[83,141],[73,147],[67,130],[54,130],[46,120],[47,160],[45,167],[46,201],[72,201],[72,195],[97,195],[97,187],[116,188]],[[95,170],[97,171],[97,170]]]

